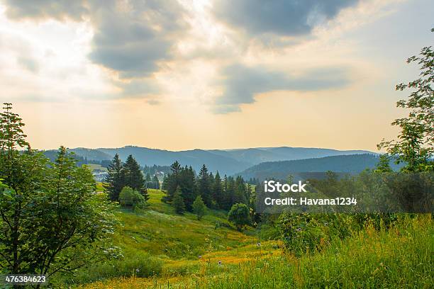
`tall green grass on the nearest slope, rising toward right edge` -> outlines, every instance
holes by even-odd
[[[420,215],[388,231],[367,227],[301,258],[265,250],[238,264],[196,261],[189,276],[117,278],[86,288],[434,288],[433,228],[431,216]],[[231,254],[257,248],[244,250]]]

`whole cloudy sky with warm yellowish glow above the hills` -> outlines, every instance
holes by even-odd
[[[0,0],[0,101],[33,148],[376,151],[430,0]]]

